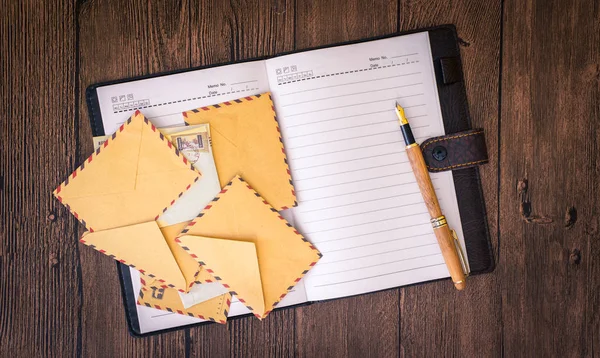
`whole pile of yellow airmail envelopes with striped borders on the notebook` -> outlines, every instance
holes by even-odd
[[[234,294],[262,319],[321,257],[277,212],[295,193],[270,95],[186,115],[210,123],[223,187],[192,222],[157,222],[201,173],[139,111],[54,195],[86,227],[81,242],[140,271],[139,304],[224,323]],[[177,291],[210,282],[230,292],[184,307]]]

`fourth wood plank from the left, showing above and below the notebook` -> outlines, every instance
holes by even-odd
[[[297,1],[296,49],[389,34],[396,1]],[[298,355],[397,356],[398,290],[320,302],[297,311]]]

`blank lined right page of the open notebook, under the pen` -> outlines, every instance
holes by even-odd
[[[418,142],[444,134],[428,34],[266,61],[298,207],[295,226],[323,253],[309,300],[448,277],[394,113]],[[462,240],[451,173],[432,175]]]

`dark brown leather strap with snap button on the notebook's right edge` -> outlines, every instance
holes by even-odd
[[[430,172],[470,168],[488,162],[483,129],[429,138],[421,144],[421,150]]]

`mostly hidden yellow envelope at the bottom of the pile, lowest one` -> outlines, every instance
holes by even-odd
[[[212,322],[225,324],[231,304],[231,294],[211,298],[192,307],[185,308],[177,290],[172,288],[148,288],[142,286],[138,305],[159,310],[178,313],[185,316],[197,317]]]

